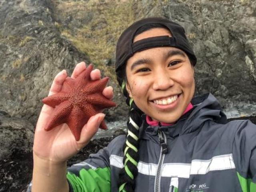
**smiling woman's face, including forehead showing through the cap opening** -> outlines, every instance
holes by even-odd
[[[164,35],[171,36],[164,28],[153,28],[138,34],[134,42]],[[194,67],[178,48],[158,47],[136,52],[126,63],[126,77],[130,98],[153,120],[175,122],[194,95]]]

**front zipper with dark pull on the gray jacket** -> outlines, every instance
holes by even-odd
[[[158,123],[161,126],[160,122]],[[161,172],[162,172],[162,164],[164,162],[164,156],[168,153],[168,148],[166,145],[166,136],[164,132],[158,129],[158,138],[161,145],[160,158],[157,166],[156,172],[156,180],[155,180],[155,192],[160,192],[160,180],[161,180]]]

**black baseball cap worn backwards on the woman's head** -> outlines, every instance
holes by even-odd
[[[138,40],[133,43],[134,35],[136,32],[145,25],[148,24],[161,24],[170,30],[172,37],[170,36],[156,36]],[[176,22],[172,22],[165,18],[145,18],[134,22],[129,26],[118,39],[116,45],[116,74],[117,80],[122,85],[124,77],[121,77],[119,72],[120,68],[126,64],[126,61],[136,52],[143,51],[154,47],[176,47],[184,51],[190,62],[193,65],[196,64],[196,56],[190,47],[185,35],[185,30],[182,26]]]

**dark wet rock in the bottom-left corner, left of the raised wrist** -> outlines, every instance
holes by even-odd
[[[32,175],[34,126],[0,111],[0,192],[25,192]]]

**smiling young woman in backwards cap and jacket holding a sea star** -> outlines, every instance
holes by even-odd
[[[104,114],[92,116],[76,141],[66,124],[44,132],[53,109],[43,106],[33,147],[33,192],[256,192],[256,125],[228,122],[210,93],[194,96],[195,64],[179,24],[146,18],[128,27],[116,47],[116,76],[129,105],[127,135],[66,168]],[[71,77],[84,69],[78,64]],[[100,72],[90,76],[98,80]],[[50,93],[66,78],[58,74]],[[113,89],[102,94],[111,99]]]

